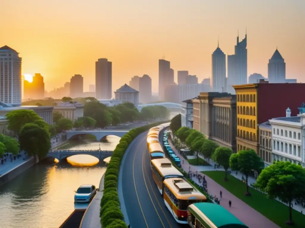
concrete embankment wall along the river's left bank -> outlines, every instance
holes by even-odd
[[[6,172],[5,174],[2,174],[0,176],[0,186],[13,180],[19,174],[23,173],[28,168],[32,167],[34,164],[36,164],[38,162],[39,162],[38,157],[31,157],[29,160],[24,161],[23,163],[21,163],[20,165],[16,166],[13,169],[11,169],[10,171]]]

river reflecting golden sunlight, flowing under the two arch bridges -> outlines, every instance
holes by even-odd
[[[120,138],[107,136],[107,141],[71,143],[70,149],[113,150]],[[66,147],[67,149],[67,147]],[[81,184],[97,188],[106,164],[95,157],[75,155],[69,162],[38,163],[0,187],[1,228],[58,228],[74,210],[74,191]],[[93,165],[95,164],[95,165]]]

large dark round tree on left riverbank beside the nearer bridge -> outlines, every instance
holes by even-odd
[[[44,158],[51,149],[50,134],[45,128],[34,123],[25,124],[19,134],[20,149],[29,156]]]

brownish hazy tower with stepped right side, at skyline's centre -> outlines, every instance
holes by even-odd
[[[159,99],[164,99],[164,89],[174,83],[174,70],[170,68],[170,61],[159,59]]]

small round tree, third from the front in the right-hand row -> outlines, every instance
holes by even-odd
[[[228,181],[227,173],[228,168],[230,168],[230,156],[232,153],[233,151],[230,148],[218,147],[212,154],[213,161],[224,167],[224,181]]]

